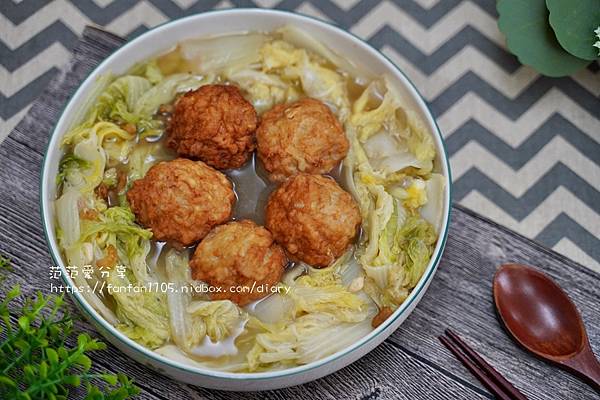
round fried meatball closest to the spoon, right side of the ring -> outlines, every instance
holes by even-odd
[[[326,267],[356,237],[360,212],[333,179],[299,174],[271,194],[265,225],[291,258]]]

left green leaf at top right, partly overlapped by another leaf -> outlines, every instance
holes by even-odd
[[[589,63],[565,51],[556,40],[545,0],[500,0],[497,9],[498,27],[521,63],[553,77],[570,75]]]

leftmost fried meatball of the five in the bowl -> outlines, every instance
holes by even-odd
[[[154,239],[189,246],[230,218],[235,194],[221,172],[202,161],[178,158],[150,168],[133,182],[127,200]]]

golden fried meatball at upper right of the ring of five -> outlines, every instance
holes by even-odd
[[[348,139],[329,107],[304,98],[262,115],[256,131],[258,156],[272,181],[299,172],[323,174],[348,153]]]

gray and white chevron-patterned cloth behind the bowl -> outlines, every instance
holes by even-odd
[[[505,48],[494,0],[0,0],[0,142],[85,25],[124,37],[214,8],[332,21],[396,62],[446,137],[454,200],[600,272],[597,64],[550,79]]]

